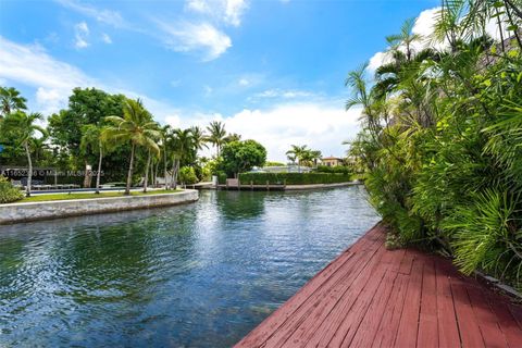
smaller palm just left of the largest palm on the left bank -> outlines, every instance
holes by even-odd
[[[98,171],[96,173],[95,192],[100,194],[101,163],[104,153],[110,151],[110,144],[103,138],[104,128],[96,124],[88,124],[82,128],[82,139],[79,141],[79,150],[86,156],[87,153],[98,153]]]

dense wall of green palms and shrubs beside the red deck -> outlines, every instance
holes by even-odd
[[[445,1],[431,37],[407,21],[373,80],[365,65],[349,73],[346,107],[363,111],[350,156],[393,227],[389,244],[437,250],[465,274],[520,289],[522,17],[512,3]],[[485,23],[497,24],[495,39]]]

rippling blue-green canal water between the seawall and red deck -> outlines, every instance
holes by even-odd
[[[0,227],[0,347],[229,347],[380,217],[361,186]]]

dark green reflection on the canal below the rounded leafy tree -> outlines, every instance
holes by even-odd
[[[217,204],[227,219],[251,219],[264,213],[266,192],[259,191],[219,191]]]

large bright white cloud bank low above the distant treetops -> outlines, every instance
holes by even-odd
[[[359,130],[360,110],[346,112],[343,105],[331,103],[286,103],[270,109],[245,109],[234,115],[197,114],[184,126],[207,126],[210,121],[222,121],[229,133],[243,139],[261,142],[270,160],[286,162],[290,145],[308,145],[324,156],[344,156],[343,140],[353,138]]]

